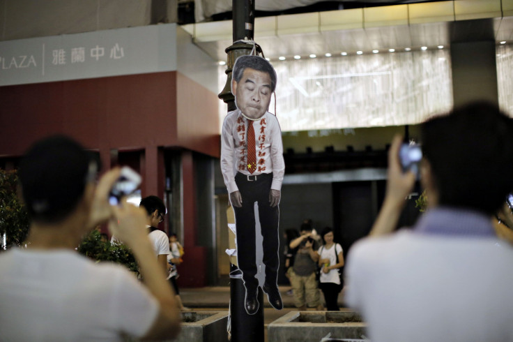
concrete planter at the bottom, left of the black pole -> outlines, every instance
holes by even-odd
[[[174,342],[228,342],[228,311],[183,312],[182,329]]]

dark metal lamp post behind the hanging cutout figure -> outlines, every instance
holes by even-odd
[[[254,32],[254,0],[232,0],[233,13],[233,44],[227,52],[227,82],[219,94],[219,98],[228,106],[228,112],[236,110],[235,97],[231,94],[231,70],[238,57],[250,54],[253,46],[239,40],[253,40]],[[261,52],[261,51],[260,51]],[[230,265],[230,315],[231,341],[263,342],[263,292],[259,288],[257,300],[259,311],[248,315],[245,309],[245,287],[241,277],[232,277],[238,267]],[[240,273],[240,271],[238,271]]]

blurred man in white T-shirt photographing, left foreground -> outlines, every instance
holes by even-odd
[[[19,172],[31,225],[26,248],[0,254],[0,340],[173,339],[180,313],[141,230],[146,215],[124,200],[108,204],[120,170],[106,172],[96,186],[96,163],[77,142],[55,136],[36,142]],[[107,220],[132,249],[144,283],[121,265],[75,251]]]

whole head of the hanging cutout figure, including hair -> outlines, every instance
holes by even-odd
[[[237,108],[250,119],[262,117],[276,88],[273,66],[259,56],[240,56],[231,75],[231,93]]]

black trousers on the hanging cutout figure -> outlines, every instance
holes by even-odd
[[[273,183],[273,174],[258,174],[247,176],[238,172],[235,182],[243,199],[242,207],[233,207],[235,211],[236,239],[237,239],[237,263],[243,272],[243,281],[246,290],[256,290],[257,258],[255,256],[255,217],[254,202],[259,205],[259,220],[263,237],[263,264],[266,265],[266,284],[277,284],[278,267],[280,257],[280,237],[278,223],[280,221],[280,209],[271,207],[269,203],[270,186]]]

